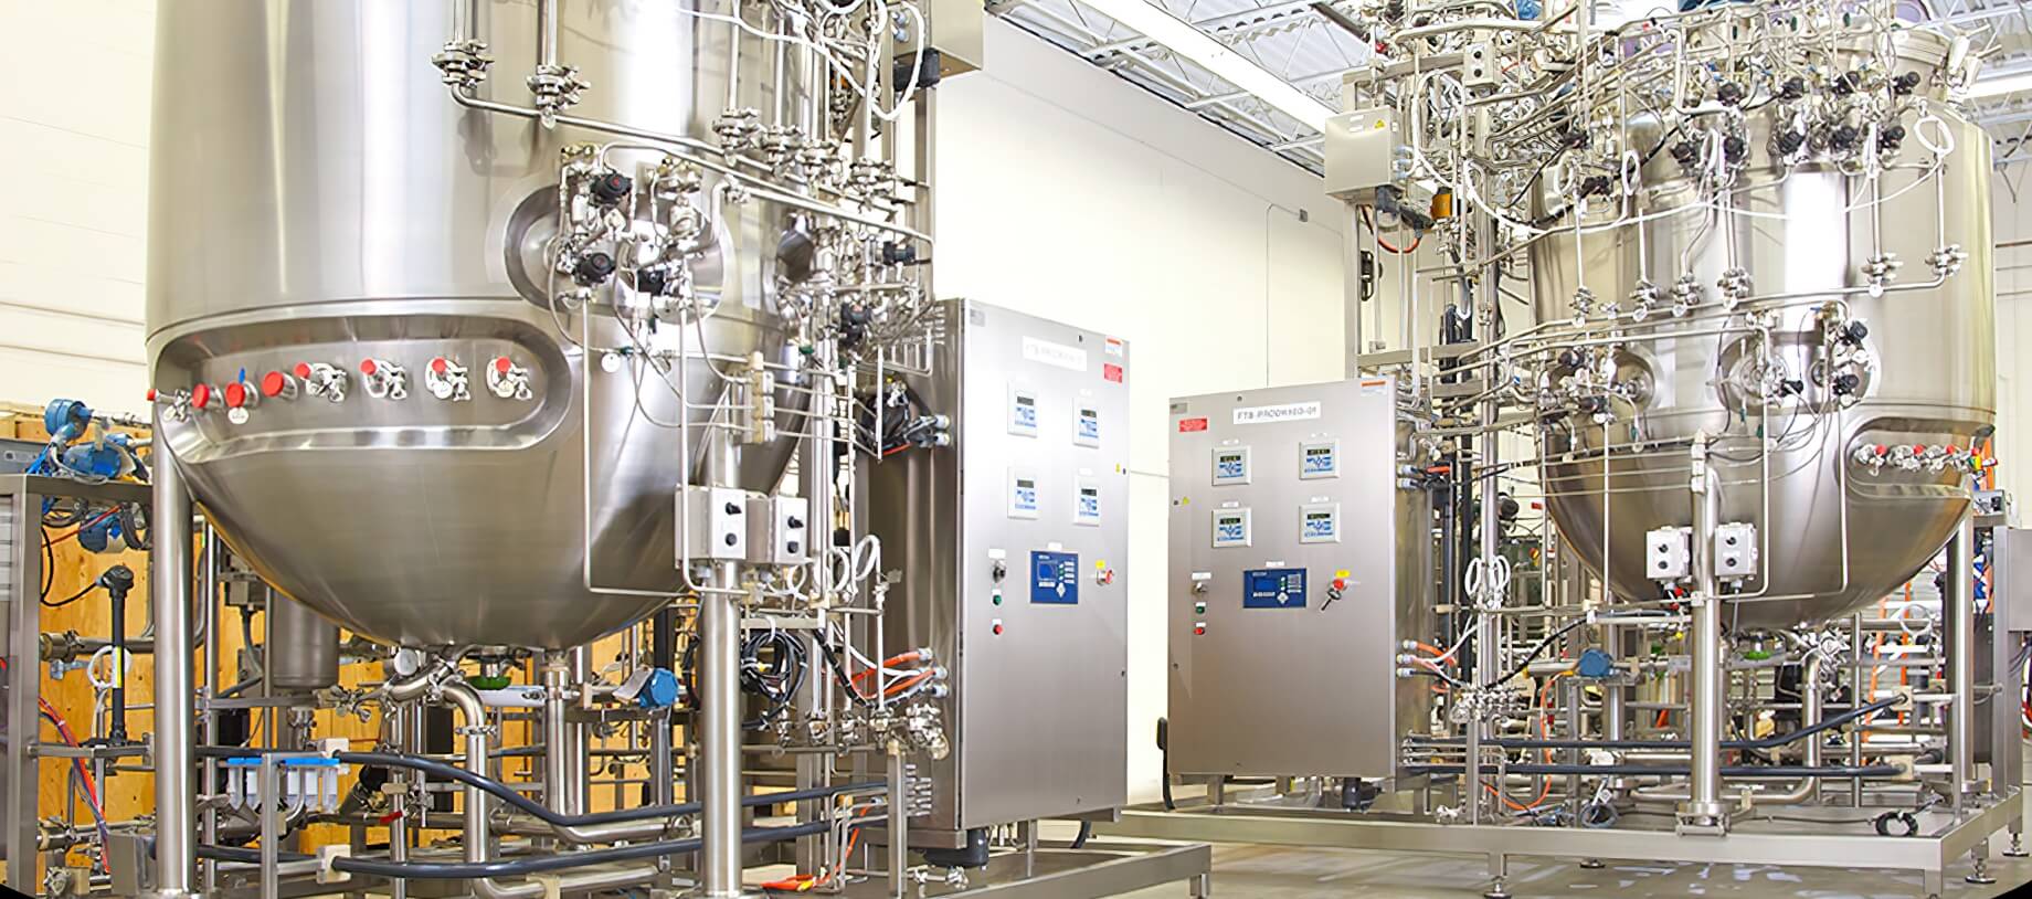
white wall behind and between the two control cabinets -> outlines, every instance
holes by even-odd
[[[1128,744],[1132,793],[1148,799],[1168,663],[1168,401],[1341,376],[1339,203],[1000,20],[986,69],[939,94],[939,295],[1130,342]]]

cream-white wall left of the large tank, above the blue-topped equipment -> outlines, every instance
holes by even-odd
[[[152,0],[0,0],[0,401],[142,411]]]

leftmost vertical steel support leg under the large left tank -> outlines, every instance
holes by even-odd
[[[156,421],[161,427],[161,421]],[[187,897],[197,858],[191,834],[191,494],[163,447],[154,460],[154,866],[161,897]]]

